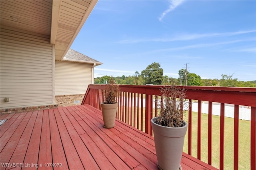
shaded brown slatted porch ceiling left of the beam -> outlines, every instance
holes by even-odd
[[[50,38],[52,1],[0,0],[1,27]]]

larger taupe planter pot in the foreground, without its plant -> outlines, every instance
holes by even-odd
[[[179,170],[183,151],[184,137],[188,124],[171,128],[158,125],[151,119],[156,147],[157,165],[160,170]]]

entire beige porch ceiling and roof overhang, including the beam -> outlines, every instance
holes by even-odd
[[[1,27],[45,37],[61,60],[98,0],[0,0]]]

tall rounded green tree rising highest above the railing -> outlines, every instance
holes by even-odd
[[[164,70],[160,68],[160,63],[152,63],[141,71],[145,84],[161,85],[163,81]]]

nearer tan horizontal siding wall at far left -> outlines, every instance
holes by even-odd
[[[0,54],[1,109],[54,103],[49,37],[2,27]]]

